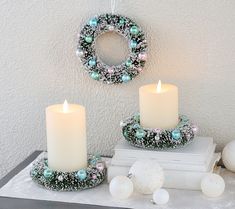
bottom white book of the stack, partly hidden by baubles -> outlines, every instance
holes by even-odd
[[[220,160],[221,154],[214,153],[210,161],[210,169],[207,172],[164,170],[165,181],[163,187],[172,189],[200,190],[201,180],[208,174],[214,172],[215,165]],[[128,175],[130,166],[108,165],[108,182],[118,175]]]

